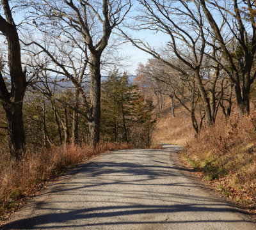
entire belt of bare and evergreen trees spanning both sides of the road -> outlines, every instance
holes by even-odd
[[[132,4],[138,13],[129,14]],[[230,116],[234,95],[239,117],[250,114],[255,4],[2,0],[2,128],[12,156],[25,153],[26,143],[39,147],[83,141],[96,147],[101,140],[149,146],[154,116],[166,96],[172,100],[173,117],[175,101],[189,112],[196,134],[203,125],[214,124],[220,110]],[[13,15],[22,17],[20,24]],[[169,42],[156,48],[129,35],[147,29],[168,34]],[[116,70],[115,45],[109,40],[113,30],[115,39],[153,57],[139,66],[134,82]],[[109,69],[106,80],[101,79],[102,68]],[[138,139],[142,136],[147,141]]]

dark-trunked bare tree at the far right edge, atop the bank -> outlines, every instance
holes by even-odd
[[[202,5],[212,36],[226,59],[225,70],[234,84],[239,116],[250,112],[250,88],[255,80],[255,1],[197,1]],[[219,24],[220,18],[225,26]]]

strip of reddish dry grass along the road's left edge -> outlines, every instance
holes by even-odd
[[[32,195],[44,181],[51,180],[63,169],[84,162],[99,153],[130,148],[127,144],[102,144],[93,150],[85,144],[81,146],[52,146],[49,149],[26,153],[21,162],[10,158],[8,151],[0,154],[0,222],[19,208],[22,197]]]

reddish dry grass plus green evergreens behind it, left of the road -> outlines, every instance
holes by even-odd
[[[38,91],[28,91],[24,100],[26,152],[13,158],[1,130],[0,220],[22,206],[24,200],[70,167],[110,150],[150,148],[157,116],[153,102],[143,98],[126,73],[109,72],[102,81],[100,143],[89,144],[90,131],[83,116],[68,108],[76,91],[56,93],[61,102]],[[6,119],[1,119],[1,125]],[[152,148],[159,148],[154,145]]]

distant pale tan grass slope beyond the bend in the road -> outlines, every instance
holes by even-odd
[[[153,132],[152,142],[161,144],[186,144],[195,132],[191,120],[181,108],[175,110],[175,118],[172,118],[170,109],[161,114],[161,117]]]

